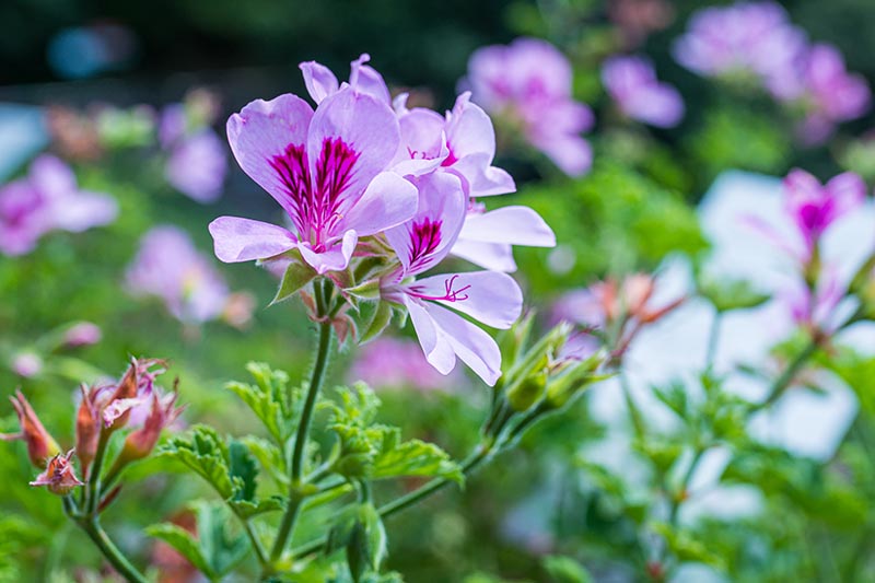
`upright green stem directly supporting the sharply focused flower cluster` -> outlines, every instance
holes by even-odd
[[[318,285],[316,285],[318,289]],[[320,312],[324,313],[324,300],[319,294],[318,303]],[[310,424],[313,419],[313,410],[316,408],[316,397],[322,388],[323,377],[325,376],[325,369],[328,364],[328,353],[331,348],[331,324],[323,322],[319,324],[319,340],[316,349],[316,362],[313,365],[313,374],[310,378],[310,387],[307,388],[306,400],[304,408],[301,411],[301,421],[298,425],[298,433],[294,439],[294,451],[292,452],[292,471],[291,483],[289,487],[289,506],[282,516],[280,528],[277,533],[277,539],[273,544],[273,549],[270,551],[270,561],[276,562],[285,550],[285,544],[292,534],[294,524],[298,521],[298,515],[301,510],[301,503],[304,501],[304,494],[301,493],[301,476],[304,471],[304,452],[306,451],[307,435],[310,435]]]

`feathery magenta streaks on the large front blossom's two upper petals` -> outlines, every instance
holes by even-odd
[[[270,165],[285,186],[294,213],[291,219],[304,241],[314,250],[325,250],[326,240],[334,234],[340,213],[341,195],[349,188],[359,154],[340,138],[326,138],[316,162],[315,180],[307,168],[304,145],[289,144]]]

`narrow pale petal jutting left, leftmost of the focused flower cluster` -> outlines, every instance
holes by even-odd
[[[298,245],[285,229],[252,219],[220,217],[209,229],[215,256],[226,264],[272,257]]]

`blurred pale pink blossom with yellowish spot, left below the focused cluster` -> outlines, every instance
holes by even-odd
[[[188,234],[170,225],[143,236],[126,284],[133,295],[160,298],[174,317],[189,324],[222,316],[233,300],[221,273]]]

